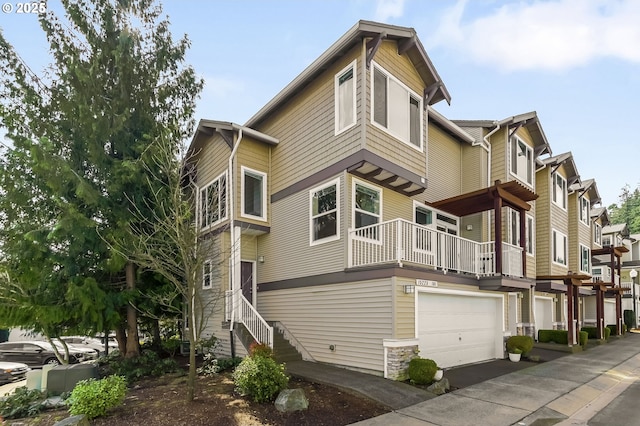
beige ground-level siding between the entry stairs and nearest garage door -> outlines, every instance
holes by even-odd
[[[258,309],[283,323],[316,361],[382,373],[382,340],[393,336],[392,293],[389,280],[268,291]]]

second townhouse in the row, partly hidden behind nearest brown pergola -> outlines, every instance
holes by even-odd
[[[542,155],[550,155],[551,148],[535,111],[507,117],[502,120],[454,120],[477,140],[489,148],[490,181],[516,181],[534,191],[536,188],[536,164]],[[510,293],[508,331],[512,335],[535,336],[533,290],[536,277],[536,204],[521,216],[511,208],[503,209],[504,258],[507,264],[521,257],[519,247],[524,241],[526,274],[530,280],[528,289],[514,289]],[[487,219],[491,223],[493,216]],[[524,235],[524,238],[521,236]],[[516,269],[518,269],[516,263]]]

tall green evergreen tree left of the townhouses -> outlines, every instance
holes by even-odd
[[[62,4],[64,16],[39,16],[53,58],[41,75],[0,32],[0,125],[13,144],[0,167],[5,281],[20,303],[51,308],[7,313],[52,334],[116,329],[136,356],[136,266],[108,242],[151,208],[145,156],[161,137],[178,153],[202,81],[153,0]]]

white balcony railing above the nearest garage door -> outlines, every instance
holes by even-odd
[[[477,242],[403,219],[349,231],[349,267],[412,264],[476,277],[496,273],[493,241]],[[502,243],[502,275],[523,277],[522,248]]]

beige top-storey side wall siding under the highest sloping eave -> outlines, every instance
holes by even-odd
[[[359,58],[359,53],[360,47],[347,53],[257,129],[280,141],[272,153],[272,193],[313,175],[361,148],[359,122],[335,136],[334,96],[336,73]],[[361,108],[362,66],[363,63],[358,59],[354,75],[358,111]],[[358,113],[357,119],[360,120],[360,117]]]

